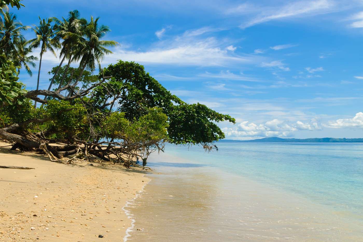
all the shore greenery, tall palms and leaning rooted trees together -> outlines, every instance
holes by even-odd
[[[8,12],[9,4],[23,5],[16,0],[0,5],[0,139],[12,150],[41,152],[66,163],[98,160],[130,167],[139,166],[140,159],[147,169],[147,157],[164,151],[166,142],[217,149],[214,141],[225,136],[216,123],[235,122],[200,103],[185,103],[138,63],[119,60],[102,68],[118,43],[104,40],[110,29],[99,17],[87,20],[73,10],[62,19],[39,18],[34,38],[26,40],[23,32],[30,27]],[[47,51],[58,52],[60,64],[49,70],[52,77],[43,90]],[[38,60],[37,88],[28,90],[19,72],[24,68],[32,76],[30,67]]]

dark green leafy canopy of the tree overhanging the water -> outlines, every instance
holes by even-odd
[[[119,61],[104,70],[113,80],[95,90],[95,98],[119,96],[118,110],[129,120],[139,118],[151,107],[160,107],[168,117],[168,141],[175,144],[207,144],[223,139],[217,122],[235,120],[200,103],[189,105],[172,95],[135,62]],[[107,95],[107,90],[112,92]],[[100,94],[101,93],[101,94]],[[98,101],[100,102],[100,101]]]

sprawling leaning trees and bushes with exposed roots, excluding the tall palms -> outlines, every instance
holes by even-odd
[[[0,139],[14,150],[44,152],[51,161],[130,167],[140,158],[144,167],[166,142],[217,148],[213,142],[225,136],[216,123],[235,122],[200,103],[183,102],[134,62],[111,64],[92,78],[74,81],[70,75],[55,90],[27,91],[12,63],[3,54],[0,59]],[[34,109],[33,101],[41,107]]]

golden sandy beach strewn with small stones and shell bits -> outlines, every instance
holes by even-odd
[[[0,169],[0,241],[123,241],[131,226],[123,207],[148,179],[138,169],[87,164],[0,147],[0,165],[35,168]]]

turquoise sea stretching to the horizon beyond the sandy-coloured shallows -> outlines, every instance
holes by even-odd
[[[362,143],[219,143],[218,152],[168,145],[190,163],[268,183],[337,210],[363,215]],[[152,166],[152,162],[150,164]]]

